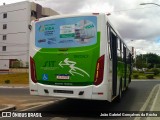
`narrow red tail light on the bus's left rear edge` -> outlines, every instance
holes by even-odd
[[[36,67],[32,57],[30,57],[30,72],[31,72],[31,79],[34,83],[37,83],[37,76],[36,76]]]

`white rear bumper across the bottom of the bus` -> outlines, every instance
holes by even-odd
[[[36,86],[36,87],[35,87]],[[53,86],[44,85],[37,83],[30,86],[31,95],[40,96],[53,96],[53,97],[63,97],[63,98],[75,98],[75,99],[93,99],[93,100],[108,100],[107,93],[105,91],[106,87],[94,85],[90,86]],[[33,90],[33,88],[36,90]]]

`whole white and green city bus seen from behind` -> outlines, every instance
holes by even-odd
[[[31,22],[30,94],[120,99],[131,82],[132,54],[102,13]]]

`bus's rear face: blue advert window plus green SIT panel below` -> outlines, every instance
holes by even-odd
[[[38,83],[59,86],[92,85],[99,58],[96,16],[70,17],[35,23]]]

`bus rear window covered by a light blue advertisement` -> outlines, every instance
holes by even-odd
[[[97,43],[96,16],[36,22],[35,45],[39,48],[70,48]]]

